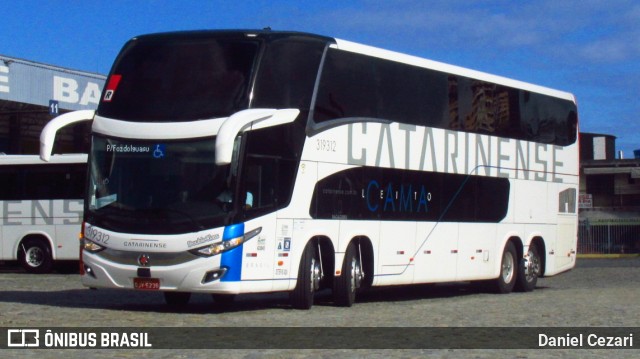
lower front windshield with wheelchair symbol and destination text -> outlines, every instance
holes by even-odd
[[[230,166],[217,166],[215,137],[145,142],[95,136],[87,218],[117,232],[188,233],[224,224]]]

